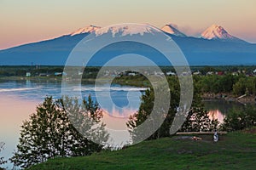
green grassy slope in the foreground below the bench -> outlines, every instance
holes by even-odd
[[[255,169],[256,134],[235,132],[203,140],[176,137],[144,141],[124,150],[55,158],[29,169]]]

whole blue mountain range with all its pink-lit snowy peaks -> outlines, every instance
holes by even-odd
[[[73,31],[70,34],[56,37],[42,42],[33,42],[15,48],[0,50],[0,65],[65,65],[68,55],[84,37],[90,33],[97,36],[111,33],[122,34],[122,36],[145,36],[146,33],[154,33],[149,29],[150,26],[138,27],[111,27],[104,29],[99,26],[86,26]],[[188,37],[178,27],[168,24],[158,29],[165,32],[167,36],[177,43],[182,49],[183,54],[189,61],[189,65],[256,65],[256,44],[246,42],[238,37],[234,37],[225,31],[222,26],[212,25],[201,33],[201,37]],[[132,49],[131,48],[132,45]],[[102,61],[111,58],[110,53],[120,51],[138,52],[143,51],[150,59],[158,65],[166,64],[166,59],[157,57],[155,51],[150,51],[142,44],[136,46],[131,43],[116,44],[98,54],[90,65],[103,65]],[[143,54],[143,52],[141,54]],[[113,54],[112,54],[113,55]],[[107,59],[107,60],[106,60]]]

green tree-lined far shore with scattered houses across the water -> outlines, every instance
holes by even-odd
[[[60,65],[2,65],[0,66],[0,81],[47,80],[61,82],[62,76],[65,77],[63,67]],[[80,71],[79,67],[73,69],[74,72],[82,74],[82,83],[95,83],[101,67],[89,66],[84,71]],[[177,79],[172,66],[161,66],[160,69],[164,75],[155,72],[151,74],[159,77],[166,76],[169,82]],[[256,66],[191,66],[190,69],[194,79],[194,87],[198,88],[195,91],[201,93],[201,99],[223,99],[244,105],[256,103]],[[149,73],[147,72],[147,74]],[[107,77],[115,77],[112,83],[119,85],[138,88],[151,87],[145,76],[134,71],[117,72],[109,67]],[[70,76],[67,79],[70,79]],[[102,78],[101,81],[104,83],[105,79]],[[175,82],[177,81],[175,80]]]

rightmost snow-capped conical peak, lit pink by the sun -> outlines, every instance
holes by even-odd
[[[231,36],[222,26],[212,25],[206,31],[201,33],[201,37],[205,39],[221,39],[226,41],[242,41],[241,39]]]

